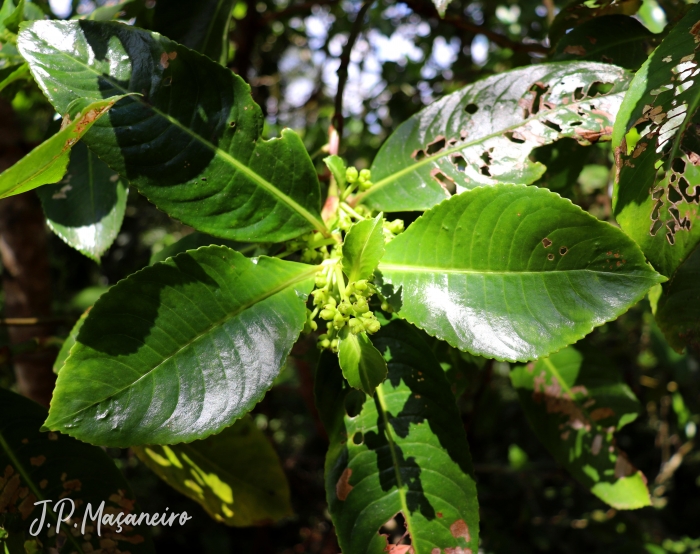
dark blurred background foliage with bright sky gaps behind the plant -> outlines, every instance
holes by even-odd
[[[219,52],[214,43],[207,46],[198,42],[197,33],[192,33],[198,21],[211,18],[212,12],[207,10],[213,4],[231,13],[230,18],[217,19],[222,23],[212,31],[226,33],[228,51]],[[162,31],[224,61],[251,84],[252,99],[262,109],[263,137],[280,136],[284,127],[295,129],[316,162],[322,185],[329,180],[320,160],[328,141],[339,79],[347,79],[340,153],[358,168],[369,167],[387,137],[422,107],[477,79],[545,61],[552,46],[548,36],[561,37],[550,59],[612,62],[636,70],[658,45],[667,25],[678,21],[687,9],[681,0],[572,5],[554,0],[453,0],[445,16],[439,18],[428,0],[378,1],[367,9],[362,32],[347,54],[343,46],[362,6],[350,0],[131,0],[121,4],[74,0],[70,5],[45,1],[27,5],[35,10],[25,13],[27,19],[44,14],[94,20],[120,17]],[[160,11],[164,6],[172,11]],[[181,14],[176,21],[167,21],[162,15],[175,12]],[[629,18],[632,14],[636,14],[635,19]],[[182,25],[185,20],[192,25]],[[576,26],[566,34],[573,26],[571,21]],[[616,37],[610,29],[619,30],[621,25],[626,29],[619,33],[623,43],[611,40]],[[592,34],[595,41],[589,38]],[[584,47],[584,38],[595,48]],[[344,55],[350,57],[347,75],[339,76]],[[57,130],[53,108],[17,61],[11,45],[0,50],[3,159],[13,148],[28,152]],[[334,123],[339,126],[337,119]],[[565,137],[528,155],[532,162],[547,166],[538,184],[574,200],[598,219],[613,219],[609,144],[584,148]],[[79,181],[80,186],[87,186],[81,181],[85,170],[75,167],[91,163],[86,158],[71,158],[69,175],[75,175],[70,181],[74,185]],[[94,171],[109,174],[106,167]],[[49,225],[58,235],[50,235],[48,245],[51,317],[58,321],[52,320],[49,338],[38,346],[28,339],[23,346],[13,341],[10,347],[10,328],[0,327],[0,340],[8,345],[0,351],[3,387],[17,386],[12,363],[25,351],[33,354],[39,348],[55,357],[59,341],[52,342],[51,337],[67,336],[72,324],[108,287],[171,255],[170,247],[183,237],[191,241],[188,247],[210,244],[158,211],[135,190],[124,198],[123,185],[116,178],[113,183],[115,191],[110,198],[93,201],[103,214],[98,225],[110,230],[114,243],[105,251],[108,245],[87,241],[83,250],[93,257],[104,252],[99,264],[59,238],[62,222],[85,216],[47,209]],[[59,185],[55,190],[40,189],[45,208],[60,195],[65,183]],[[124,221],[119,228],[115,218],[119,219],[122,211]],[[416,214],[400,215],[408,224]],[[8,269],[3,268],[4,276]],[[428,336],[420,338],[431,345],[458,397],[477,481],[481,548],[485,553],[700,552],[700,454],[695,449],[700,424],[700,365],[697,352],[674,351],[652,317],[652,307],[662,313],[682,307],[674,308],[664,297],[657,307],[658,300],[658,296],[641,300],[618,320],[595,329],[567,354],[580,358],[579,363],[609,368],[619,379],[603,385],[623,388],[638,400],[625,408],[630,413],[639,409],[639,417],[606,422],[620,428],[615,444],[649,480],[652,506],[636,511],[610,508],[556,464],[557,453],[550,454],[527,423],[537,417],[536,406],[524,410],[518,402],[523,389],[535,386],[523,378],[527,375],[524,366],[511,373],[517,364],[473,358]],[[4,299],[5,304],[11,301],[7,296]],[[107,449],[144,511],[163,511],[169,506],[194,515],[183,528],[156,529],[158,551],[337,552],[323,482],[328,437],[321,424],[324,415],[319,415],[313,401],[311,368],[317,356],[313,341],[297,344],[273,388],[252,412],[250,421],[272,441],[289,481],[295,515],[274,528],[219,525],[207,511],[146,467],[157,458],[143,451],[137,455],[131,450]],[[565,365],[571,360],[561,362]],[[588,386],[599,391],[595,383]],[[323,411],[322,405],[319,410]],[[259,440],[257,431],[255,440]],[[285,501],[282,504],[279,509],[283,514],[287,506]],[[222,509],[216,502],[212,505],[207,507],[210,513]],[[219,517],[225,519],[225,511]],[[399,521],[389,522],[384,530],[400,536],[402,529]]]

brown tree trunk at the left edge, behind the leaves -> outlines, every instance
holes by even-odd
[[[0,171],[19,160],[27,150],[20,126],[7,102],[0,102]],[[41,204],[34,192],[0,200],[0,259],[4,317],[49,317],[51,275],[47,232]],[[52,325],[9,326],[10,341],[19,344],[43,339]],[[48,406],[56,382],[55,350],[38,350],[13,357],[19,392]]]

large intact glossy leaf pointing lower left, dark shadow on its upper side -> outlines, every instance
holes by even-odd
[[[122,447],[218,433],[277,377],[317,269],[209,246],[120,281],[80,330],[45,427]]]

